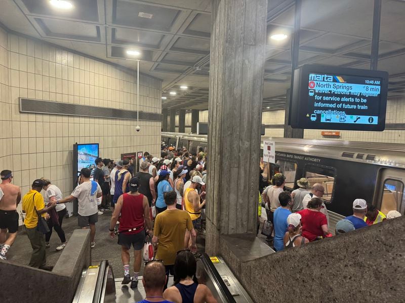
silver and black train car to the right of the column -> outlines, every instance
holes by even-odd
[[[298,188],[297,180],[305,177],[325,187],[322,198],[331,212],[351,215],[353,200],[363,198],[384,214],[404,215],[405,144],[263,139],[275,141],[275,162],[288,189]]]

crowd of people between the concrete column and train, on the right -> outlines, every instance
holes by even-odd
[[[274,250],[301,246],[332,236],[329,214],[322,199],[325,193],[322,184],[311,186],[308,179],[301,178],[297,180],[298,188],[290,192],[284,190],[286,177],[281,173],[275,173],[271,183],[263,188],[261,199],[272,227],[266,240],[273,245]],[[397,211],[390,211],[385,216],[365,199],[355,199],[353,215],[337,222],[335,234],[347,233],[399,216],[401,214]]]

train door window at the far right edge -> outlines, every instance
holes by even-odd
[[[403,183],[399,180],[386,179],[384,181],[383,196],[380,211],[385,215],[389,211],[398,211],[402,215],[405,211]]]

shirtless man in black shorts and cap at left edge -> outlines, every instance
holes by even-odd
[[[0,259],[7,260],[7,251],[17,237],[17,205],[21,201],[21,190],[19,186],[11,184],[13,173],[10,170],[2,171],[0,178]]]

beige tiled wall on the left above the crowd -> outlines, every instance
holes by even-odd
[[[1,169],[29,190],[39,177],[50,178],[63,195],[72,190],[72,146],[100,143],[100,157],[149,151],[158,154],[161,122],[20,114],[19,97],[136,110],[135,72],[76,55],[48,43],[0,29],[2,97]],[[139,110],[161,112],[160,80],[140,75]]]

